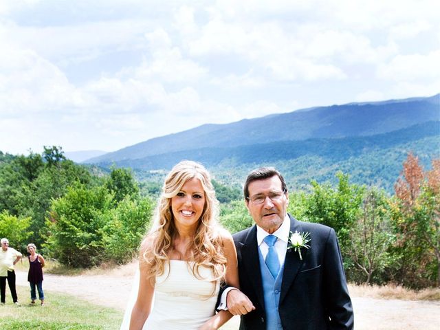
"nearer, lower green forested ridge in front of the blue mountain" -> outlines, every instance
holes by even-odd
[[[351,173],[356,184],[380,186],[392,192],[408,151],[419,155],[421,164],[430,168],[431,160],[440,156],[440,122],[426,122],[368,137],[196,148],[114,164],[133,168],[140,179],[155,181],[149,171],[170,169],[181,159],[192,159],[208,166],[223,184],[242,184],[252,168],[269,165],[286,173],[288,184],[295,188],[309,186],[311,179],[334,182],[335,174],[342,170]],[[111,163],[101,166],[108,167]]]

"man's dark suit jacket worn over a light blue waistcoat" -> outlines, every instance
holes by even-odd
[[[309,232],[311,241],[308,250],[301,249],[302,261],[294,249],[286,253],[278,306],[283,330],[353,329],[353,308],[335,231],[289,217],[290,230]],[[256,226],[232,236],[239,261],[240,289],[256,307],[241,316],[240,329],[265,330]]]

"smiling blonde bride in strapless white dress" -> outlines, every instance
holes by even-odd
[[[130,330],[218,329],[232,317],[214,314],[220,282],[239,285],[234,242],[217,225],[218,210],[206,168],[174,166],[141,245]]]

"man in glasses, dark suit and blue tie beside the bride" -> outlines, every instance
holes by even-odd
[[[226,298],[231,313],[241,315],[240,329],[353,329],[335,231],[287,214],[287,186],[274,168],[253,170],[244,194],[256,225],[233,236],[240,289],[255,309],[239,290],[230,290]],[[310,241],[298,242],[297,250],[290,248],[296,243],[288,239],[291,232],[309,234]]]

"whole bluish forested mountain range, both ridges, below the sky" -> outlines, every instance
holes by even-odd
[[[353,181],[391,190],[410,151],[428,167],[440,157],[440,94],[204,124],[85,162],[146,173],[193,159],[226,182],[240,182],[248,170],[264,164],[287,170],[295,185],[311,178],[331,180],[337,170],[344,170],[355,173]]]

